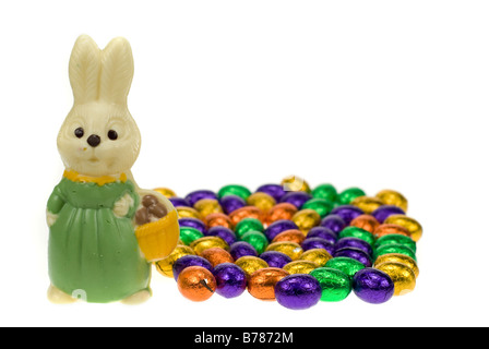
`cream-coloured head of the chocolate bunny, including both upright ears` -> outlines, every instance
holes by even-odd
[[[129,171],[138,158],[141,136],[127,107],[133,61],[126,39],[102,51],[81,36],[70,59],[74,105],[58,134],[67,169],[86,176]]]

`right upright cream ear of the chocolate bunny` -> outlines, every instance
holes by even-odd
[[[127,105],[134,61],[128,40],[112,39],[102,52],[100,99]]]

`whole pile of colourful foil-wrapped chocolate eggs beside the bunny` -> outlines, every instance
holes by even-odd
[[[342,301],[351,291],[384,303],[416,286],[422,228],[406,215],[407,200],[396,191],[368,196],[332,184],[311,190],[298,177],[254,193],[237,184],[184,197],[156,191],[174,204],[180,224],[178,246],[156,269],[174,277],[192,301],[248,290],[301,310]]]

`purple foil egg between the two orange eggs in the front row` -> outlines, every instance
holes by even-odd
[[[247,289],[247,275],[243,269],[232,263],[222,263],[214,268],[216,292],[224,298],[241,296]]]

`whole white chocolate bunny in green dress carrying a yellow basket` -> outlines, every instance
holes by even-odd
[[[141,146],[127,105],[133,73],[124,38],[104,50],[86,35],[77,38],[69,64],[74,105],[58,134],[65,171],[47,205],[48,298],[55,303],[141,303],[152,294],[151,262],[177,245],[175,207],[141,190],[131,174]],[[138,224],[143,202],[160,214]]]

